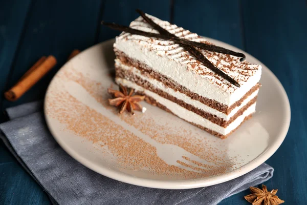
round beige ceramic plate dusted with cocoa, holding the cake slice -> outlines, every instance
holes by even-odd
[[[84,166],[133,185],[189,189],[241,176],[281,145],[290,125],[289,100],[275,75],[251,55],[245,53],[247,60],[262,65],[257,111],[222,140],[144,102],[145,113],[118,115],[115,107],[108,106],[106,92],[111,85],[117,89],[112,77],[113,43],[108,40],[71,59],[53,78],[46,95],[51,133]],[[196,166],[186,157],[200,163]]]

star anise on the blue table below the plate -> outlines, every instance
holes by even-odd
[[[265,185],[262,185],[262,190],[256,187],[250,187],[250,191],[252,194],[247,195],[244,198],[253,205],[278,205],[284,202],[284,200],[281,200],[276,196],[277,189],[268,192],[267,186]]]

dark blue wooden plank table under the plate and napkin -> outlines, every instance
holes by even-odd
[[[307,202],[307,2],[101,0],[0,0],[0,109],[42,99],[53,75],[73,49],[83,50],[118,32],[100,20],[128,25],[136,8],[200,35],[243,49],[267,65],[286,89],[291,126],[277,152],[267,160],[287,204]],[[15,103],[3,93],[42,55],[52,54],[57,66]],[[1,115],[0,120],[4,117]],[[248,191],[221,204],[248,204]],[[0,142],[0,204],[49,204],[46,193],[21,168]]]

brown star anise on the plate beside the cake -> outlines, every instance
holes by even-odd
[[[134,110],[142,111],[143,107],[139,104],[140,101],[144,100],[145,96],[133,95],[134,89],[130,89],[129,93],[125,87],[119,85],[119,91],[111,88],[107,89],[109,94],[112,94],[114,99],[108,99],[109,104],[112,106],[119,107],[119,113],[122,114],[125,110],[134,115]]]

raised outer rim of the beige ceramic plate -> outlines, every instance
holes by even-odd
[[[57,141],[57,143],[61,146],[61,148],[67,152],[71,157],[73,157],[75,160],[80,162],[83,166],[112,179],[129,183],[131,185],[136,185],[136,186],[142,186],[142,187],[148,187],[148,188],[158,188],[158,189],[192,189],[192,188],[200,188],[200,187],[208,187],[212,185],[217,185],[218,183],[223,183],[229,180],[232,180],[234,178],[237,178],[239,176],[242,176],[256,167],[260,166],[262,163],[264,163],[267,159],[269,159],[280,147],[282,144],[284,138],[286,138],[289,127],[290,127],[290,121],[291,121],[291,108],[290,108],[290,102],[289,98],[287,96],[286,91],[284,90],[282,84],[278,80],[278,78],[274,75],[274,73],[261,61],[259,61],[257,58],[254,56],[248,54],[247,52],[234,47],[230,44],[221,42],[220,40],[216,40],[213,38],[205,37],[208,40],[212,42],[216,42],[217,44],[224,44],[227,45],[228,48],[236,50],[238,52],[242,52],[248,56],[248,58],[252,59],[253,61],[257,61],[257,63],[262,65],[262,69],[266,69],[270,75],[270,78],[274,80],[274,83],[278,85],[278,89],[281,93],[281,97],[286,104],[287,110],[285,110],[285,115],[286,117],[284,118],[282,122],[282,129],[280,129],[279,135],[277,136],[275,143],[270,146],[268,149],[266,149],[264,152],[262,152],[260,155],[258,155],[256,158],[248,162],[246,165],[239,167],[236,170],[233,170],[231,172],[227,172],[225,174],[220,174],[220,175],[215,175],[211,177],[206,177],[206,178],[198,178],[198,179],[187,179],[187,180],[159,180],[159,179],[146,179],[146,178],[140,178],[136,177],[130,174],[126,174],[120,171],[115,171],[115,170],[109,170],[107,167],[101,167],[93,163],[92,161],[84,158],[83,156],[79,155],[76,151],[71,149],[67,144],[64,143],[64,141],[61,140],[61,137],[57,137],[52,129],[52,126],[50,125],[49,117],[46,114],[46,109],[47,109],[47,104],[46,104],[46,98],[48,96],[49,90],[50,90],[50,85],[52,84],[53,80],[55,80],[56,75],[52,78],[50,81],[50,84],[48,86],[48,89],[46,91],[45,95],[45,100],[44,100],[44,105],[43,105],[43,110],[44,110],[44,115],[46,119],[46,124],[54,137],[54,139]],[[93,47],[99,47],[102,44],[108,44],[110,42],[114,42],[114,38],[105,40],[104,42],[101,42],[99,44],[96,44],[94,46],[91,46],[90,48],[85,49],[83,52],[86,52],[87,50],[92,49]],[[72,58],[73,59],[73,58]],[[71,60],[72,60],[71,59]],[[68,62],[67,62],[68,63]],[[60,72],[61,69],[67,64],[65,63],[58,71]]]

